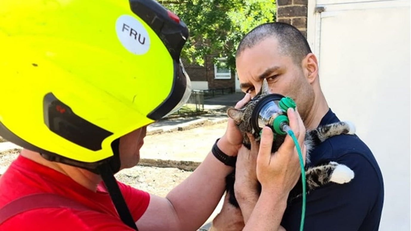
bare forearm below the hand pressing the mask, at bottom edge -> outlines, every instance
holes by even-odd
[[[278,230],[286,204],[286,196],[262,192],[243,231]]]

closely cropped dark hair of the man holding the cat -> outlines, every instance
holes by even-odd
[[[296,64],[300,64],[311,53],[307,39],[297,28],[287,23],[274,22],[261,24],[248,32],[238,45],[236,58],[245,49],[252,48],[269,37],[276,38],[280,52],[291,56]]]

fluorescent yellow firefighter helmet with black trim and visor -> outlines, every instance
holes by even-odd
[[[188,34],[153,0],[0,0],[0,136],[96,171],[187,101]]]

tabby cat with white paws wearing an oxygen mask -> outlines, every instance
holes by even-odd
[[[268,83],[264,79],[263,85],[259,94],[257,94],[250,102],[248,102],[241,109],[229,108],[227,114],[234,120],[240,132],[243,136],[243,145],[248,149],[251,148],[250,141],[247,133],[252,134],[259,144],[260,135],[259,132],[254,131],[251,125],[251,115],[254,107],[259,99],[270,94]],[[304,144],[307,147],[306,164],[309,164],[309,152],[321,142],[330,138],[331,136],[337,136],[340,134],[354,134],[355,127],[351,122],[336,122],[328,125],[318,127],[314,130],[308,130],[305,134]],[[279,146],[284,142],[286,135],[276,135],[272,145],[272,153],[276,152]],[[232,205],[239,208],[236,197],[234,195],[234,181],[235,181],[235,169],[226,177],[226,191],[229,193],[229,201]],[[306,178],[306,192],[312,191],[322,185],[326,185],[329,182],[335,182],[338,184],[344,184],[350,182],[354,178],[354,172],[343,164],[336,162],[329,162],[320,166],[312,166],[305,169]],[[261,185],[259,185],[258,191],[261,192]],[[301,194],[296,197],[301,196]]]

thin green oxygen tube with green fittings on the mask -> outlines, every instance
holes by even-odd
[[[284,97],[278,103],[278,106],[283,110],[287,111],[290,107],[295,109],[296,103],[290,97]],[[306,204],[306,195],[305,195],[305,169],[304,169],[304,160],[302,159],[302,153],[300,145],[298,144],[297,138],[294,135],[294,132],[289,127],[288,117],[285,115],[280,115],[275,118],[272,122],[272,127],[274,128],[277,134],[289,134],[296,145],[298,152],[298,158],[300,159],[300,169],[301,169],[301,182],[302,182],[302,208],[301,208],[301,222],[300,222],[300,231],[304,229],[304,219],[305,219],[305,204]]]

